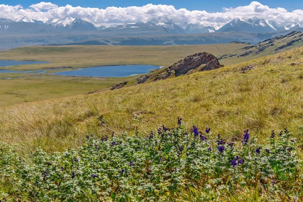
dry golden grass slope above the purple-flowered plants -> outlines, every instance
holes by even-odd
[[[119,134],[136,126],[147,134],[160,124],[174,126],[178,116],[186,128],[211,127],[227,139],[241,139],[246,128],[261,140],[272,129],[299,134],[302,63],[303,48],[297,48],[218,70],[0,108],[0,139],[23,151],[61,150],[81,144],[86,134]]]

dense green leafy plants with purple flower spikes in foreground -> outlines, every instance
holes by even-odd
[[[248,130],[225,142],[211,129],[187,133],[162,126],[140,137],[87,135],[79,149],[26,161],[0,146],[0,196],[5,201],[299,200],[302,173],[286,129],[260,145]],[[245,198],[243,199],[243,195]],[[90,199],[88,199],[90,198]]]

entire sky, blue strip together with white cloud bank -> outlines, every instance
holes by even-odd
[[[43,22],[81,18],[96,26],[172,19],[221,27],[235,18],[257,16],[280,24],[302,23],[303,0],[0,0],[0,18],[19,20],[24,16]],[[21,6],[19,6],[21,5]]]

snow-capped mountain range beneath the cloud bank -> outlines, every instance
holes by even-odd
[[[69,32],[69,31],[118,31],[118,32],[146,32],[150,34],[194,34],[212,32],[272,32],[282,30],[296,30],[303,28],[303,23],[278,24],[275,21],[267,21],[258,17],[236,18],[224,26],[211,27],[191,23],[175,23],[169,18],[155,18],[148,22],[130,22],[122,25],[107,25],[96,27],[83,19],[66,17],[64,19],[49,19],[46,22],[24,16],[17,21],[0,19],[1,33],[45,33],[45,32]]]

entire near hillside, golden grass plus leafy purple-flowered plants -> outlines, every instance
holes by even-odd
[[[1,107],[0,200],[302,201],[302,86],[300,47]]]

